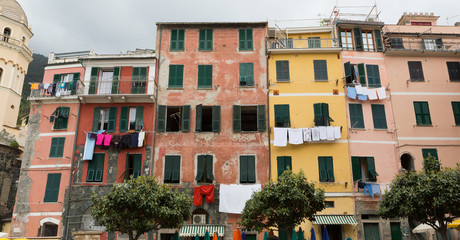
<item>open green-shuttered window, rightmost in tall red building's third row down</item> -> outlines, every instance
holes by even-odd
[[[233,131],[265,131],[265,105],[239,106],[233,105]]]

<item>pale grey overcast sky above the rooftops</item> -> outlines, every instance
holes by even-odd
[[[119,53],[155,48],[156,22],[245,22],[329,17],[336,0],[17,0],[34,37],[29,47],[50,52],[94,49]],[[371,6],[338,0],[339,6]],[[438,25],[460,22],[460,0],[378,0],[380,20],[394,24],[403,12],[434,12]],[[358,9],[356,9],[358,10]],[[364,10],[364,9],[362,9]],[[356,11],[354,11],[356,12]],[[364,11],[365,12],[365,11]],[[304,26],[318,21],[281,22]]]

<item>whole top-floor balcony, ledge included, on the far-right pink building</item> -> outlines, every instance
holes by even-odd
[[[389,38],[385,42],[388,55],[446,56],[460,52],[458,38]]]

